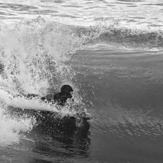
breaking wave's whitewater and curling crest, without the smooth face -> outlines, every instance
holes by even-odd
[[[157,28],[130,28],[116,22],[90,27],[70,26],[38,17],[15,24],[1,24],[0,40],[3,40],[0,43],[2,145],[19,142],[21,131],[30,131],[34,124],[31,118],[21,117],[18,120],[6,116],[9,103],[22,108],[40,107],[39,102],[32,105],[31,101],[17,98],[20,94],[44,96],[69,83],[74,87],[76,104],[83,105],[78,94],[79,87],[73,82],[76,72],[67,63],[77,50],[96,44],[162,50],[163,31]],[[4,95],[4,90],[7,95]],[[43,107],[45,110],[54,109],[47,105]]]

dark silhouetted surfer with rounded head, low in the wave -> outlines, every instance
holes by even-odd
[[[46,95],[41,97],[40,99],[45,102],[56,103],[57,105],[64,106],[68,99],[72,99],[73,89],[70,85],[63,85],[61,87],[61,91],[56,93],[55,95]],[[38,97],[36,94],[27,94],[27,98],[35,98]]]

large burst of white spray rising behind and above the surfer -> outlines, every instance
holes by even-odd
[[[71,82],[74,73],[65,61],[84,42],[72,27],[41,18],[1,26],[0,40],[2,79],[18,92],[35,94]]]

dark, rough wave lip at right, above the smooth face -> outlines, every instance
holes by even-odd
[[[129,48],[162,49],[163,31],[160,29],[134,29],[109,26],[101,30],[97,40]]]

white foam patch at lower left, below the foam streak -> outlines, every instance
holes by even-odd
[[[35,120],[33,118],[13,118],[6,114],[6,105],[0,103],[0,146],[17,144],[31,131]]]

